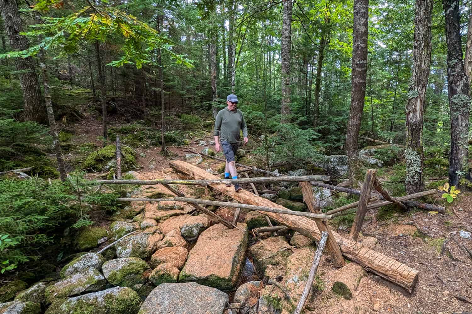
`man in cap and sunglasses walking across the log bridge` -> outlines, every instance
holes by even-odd
[[[216,115],[215,130],[213,132],[216,151],[221,152],[221,147],[223,147],[223,153],[226,156],[225,179],[229,179],[230,174],[233,179],[237,179],[235,155],[241,139],[240,130],[243,130],[244,144],[248,141],[246,122],[241,110],[236,108],[237,103],[236,95],[230,94],[226,97],[226,105],[228,106]],[[226,186],[231,185],[227,184]],[[238,192],[242,188],[235,184],[235,190]]]

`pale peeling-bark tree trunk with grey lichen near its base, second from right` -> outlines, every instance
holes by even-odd
[[[413,72],[406,105],[406,193],[424,189],[423,107],[431,63],[431,13],[433,0],[416,0]]]

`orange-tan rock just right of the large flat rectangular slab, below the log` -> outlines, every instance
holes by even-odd
[[[264,243],[257,242],[248,249],[248,254],[253,258],[257,272],[260,274],[259,277],[263,278],[265,275],[273,277],[271,274],[272,270],[277,273],[273,274],[274,276],[284,274],[287,258],[292,254],[290,250],[287,250],[290,244],[282,236],[267,238],[264,240]],[[269,266],[270,269],[268,270]]]

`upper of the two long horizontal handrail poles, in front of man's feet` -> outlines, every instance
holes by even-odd
[[[157,179],[157,180],[97,180],[92,184],[131,184],[131,185],[158,185],[158,184],[182,184],[182,185],[213,185],[213,184],[250,184],[273,182],[304,182],[316,181],[326,176],[298,176],[298,177],[253,177],[242,179],[212,179],[212,180],[185,180],[185,179]]]

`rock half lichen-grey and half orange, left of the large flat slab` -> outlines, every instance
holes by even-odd
[[[115,244],[118,258],[149,258],[156,251],[164,236],[161,233],[142,232],[132,234]]]

